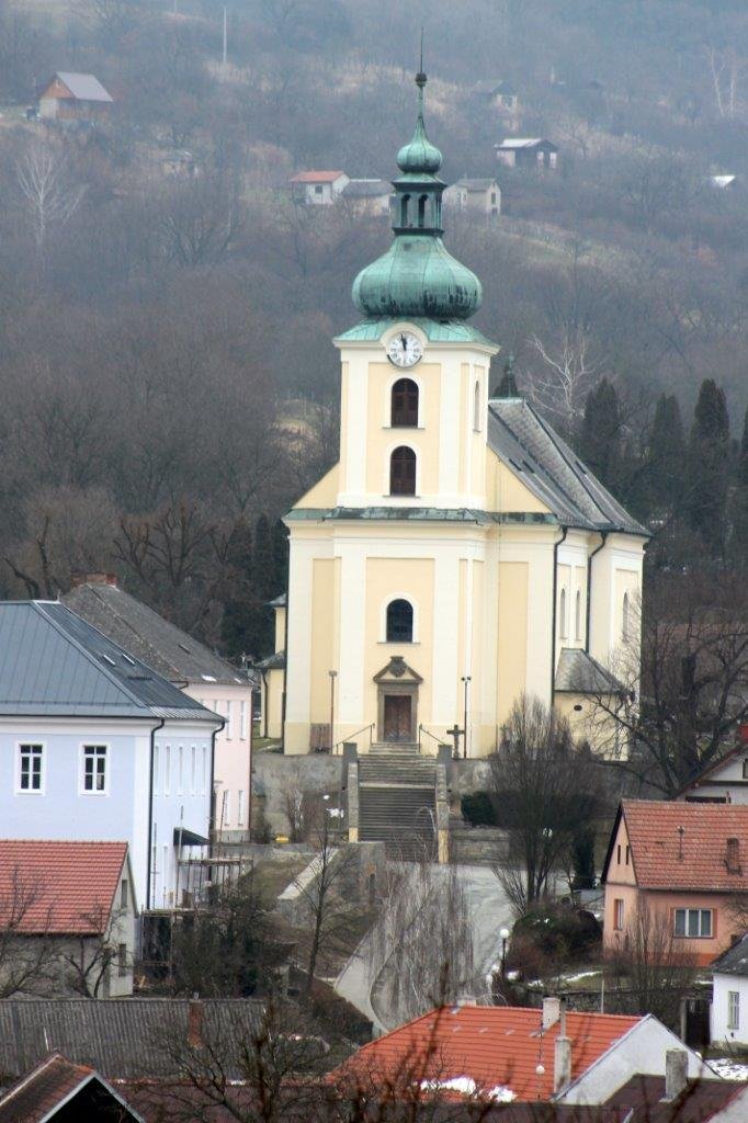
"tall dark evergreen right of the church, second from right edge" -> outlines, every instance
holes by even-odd
[[[688,521],[712,557],[724,553],[730,419],[724,391],[704,378],[688,441]]]

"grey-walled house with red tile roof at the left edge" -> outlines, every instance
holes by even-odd
[[[0,992],[133,994],[136,915],[127,842],[0,839]]]

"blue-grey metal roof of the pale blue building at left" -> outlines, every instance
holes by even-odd
[[[0,714],[220,721],[57,601],[0,602]]]

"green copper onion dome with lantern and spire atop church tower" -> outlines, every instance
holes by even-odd
[[[416,84],[419,101],[416,133],[398,153],[403,174],[393,180],[394,240],[386,254],[361,271],[354,281],[353,299],[367,317],[466,320],[481,305],[481,282],[441,241],[441,195],[446,183],[436,175],[441,167],[441,153],[426,135],[426,74],[419,73]]]

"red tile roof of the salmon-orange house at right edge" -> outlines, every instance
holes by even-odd
[[[714,893],[748,889],[748,804],[623,800],[611,833],[603,880],[621,819],[640,888]],[[728,870],[728,839],[738,840],[739,873]]]

